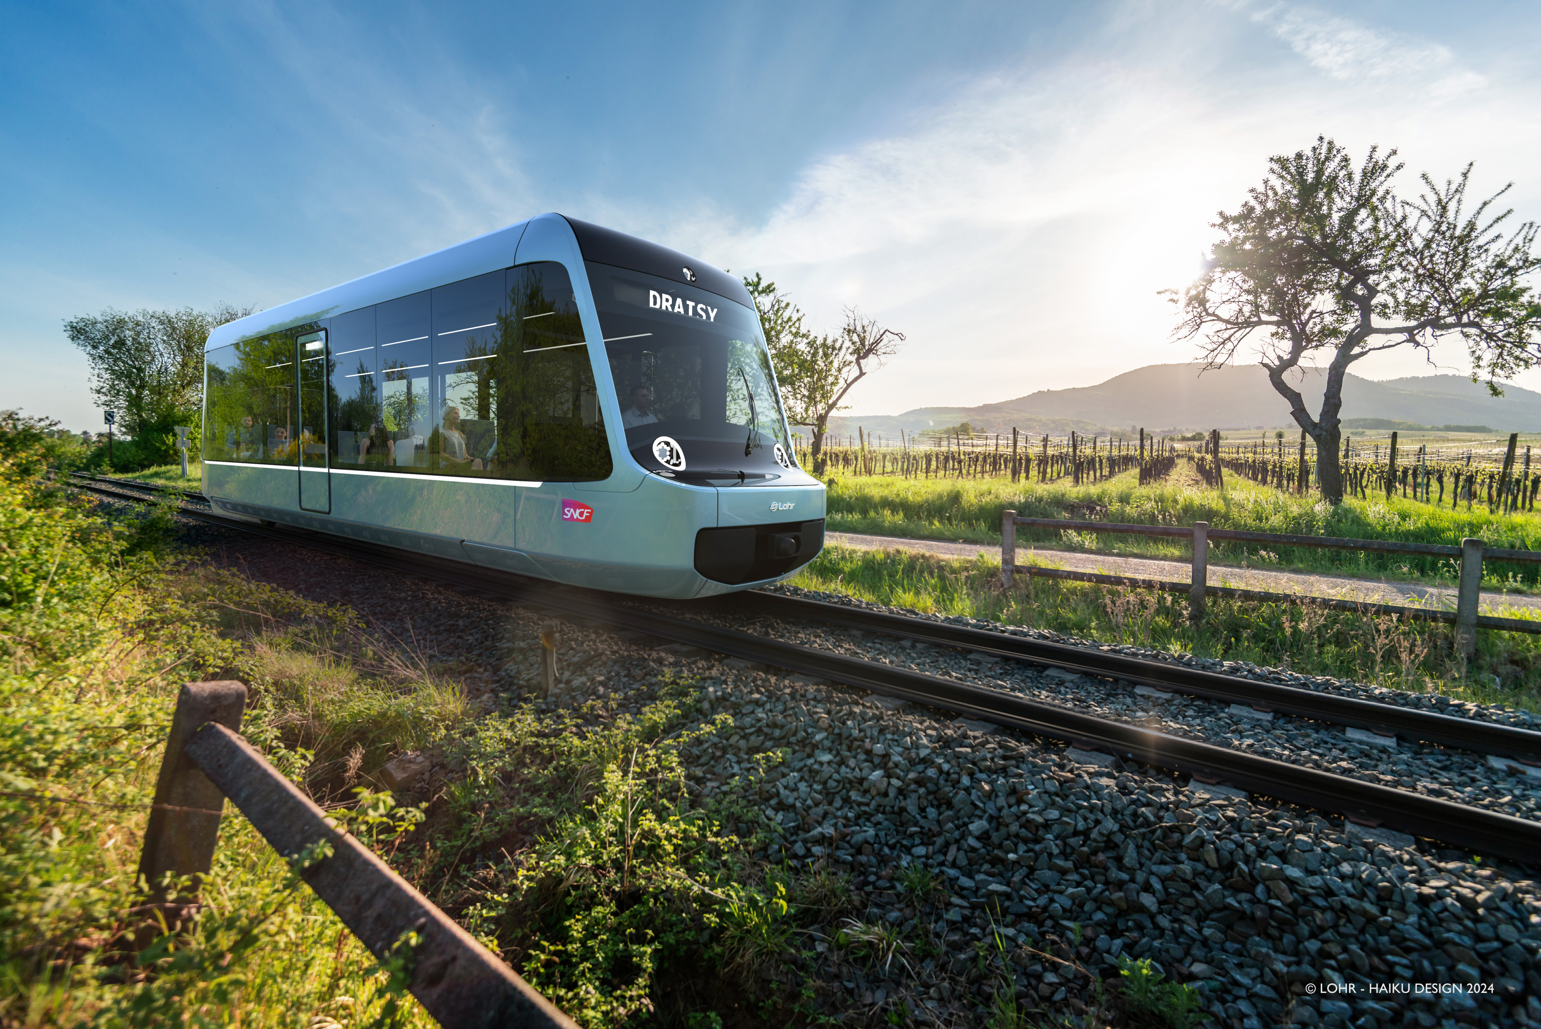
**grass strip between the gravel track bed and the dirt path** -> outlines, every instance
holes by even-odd
[[[1293,669],[1399,690],[1541,710],[1541,636],[1478,633],[1472,662],[1452,627],[1298,604],[1211,598],[1200,627],[1182,595],[1023,576],[1000,585],[992,561],[949,561],[901,550],[826,547],[792,579],[809,590],[877,604],[1046,628],[1100,644]],[[1524,616],[1526,612],[1506,612]]]

